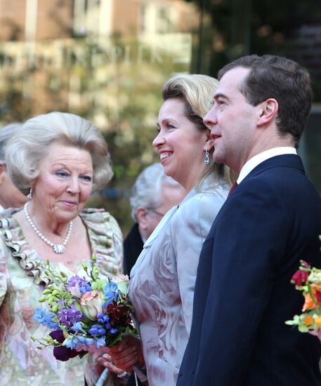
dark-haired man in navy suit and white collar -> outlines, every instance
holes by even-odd
[[[202,248],[177,385],[321,385],[320,342],[284,324],[303,306],[290,284],[300,260],[321,265],[321,199],[296,154],[310,76],[286,58],[250,55],[218,79],[204,122],[238,186]]]

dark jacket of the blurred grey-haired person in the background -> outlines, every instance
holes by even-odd
[[[143,240],[140,237],[138,224],[134,224],[124,239],[124,274],[130,274],[140,252],[143,251]]]

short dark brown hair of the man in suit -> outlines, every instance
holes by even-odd
[[[250,105],[274,98],[277,100],[277,128],[280,135],[291,134],[299,146],[312,103],[312,87],[308,70],[299,63],[275,55],[247,55],[225,65],[218,79],[235,67],[249,68],[250,72],[240,91]]]

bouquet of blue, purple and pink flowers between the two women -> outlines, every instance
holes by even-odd
[[[131,322],[133,306],[127,297],[129,278],[124,275],[111,279],[100,279],[93,255],[93,266],[83,263],[87,278],[75,275],[68,279],[65,274],[38,263],[49,279],[39,302],[34,319],[51,328],[51,333],[41,339],[37,348],[53,347],[53,355],[60,361],[81,357],[90,352],[98,356],[105,347],[114,345],[122,335],[137,335]]]

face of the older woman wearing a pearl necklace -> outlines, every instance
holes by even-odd
[[[84,208],[92,186],[91,154],[78,147],[54,143],[41,162],[32,201],[47,218],[69,222]]]

